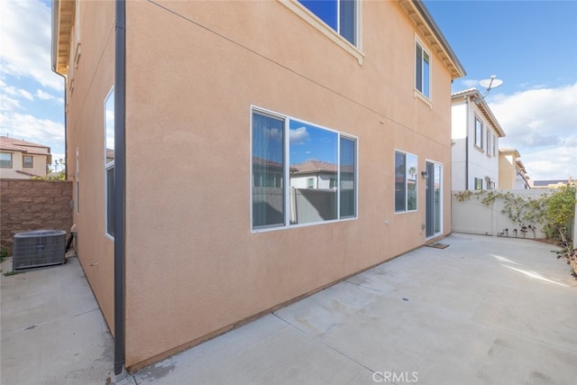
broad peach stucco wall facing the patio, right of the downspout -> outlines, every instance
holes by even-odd
[[[431,52],[432,107],[414,96],[397,2],[362,2],[362,65],[278,2],[157,3],[126,4],[127,367],[423,244],[423,179],[394,214],[395,149],[444,164],[450,231],[450,73]],[[358,137],[358,219],[251,232],[251,105]]]

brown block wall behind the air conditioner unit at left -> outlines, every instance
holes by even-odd
[[[14,234],[72,226],[69,180],[0,179],[0,245],[12,254]]]

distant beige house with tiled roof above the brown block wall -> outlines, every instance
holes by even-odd
[[[0,136],[0,178],[46,177],[51,162],[50,147]]]

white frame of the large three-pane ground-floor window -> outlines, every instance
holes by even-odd
[[[284,197],[284,223],[280,224],[280,225],[265,225],[265,226],[259,226],[259,227],[254,227],[252,225],[252,114],[261,114],[261,115],[270,115],[271,117],[275,117],[275,118],[279,118],[283,120],[283,124],[284,124],[284,128],[283,128],[283,134],[284,134],[284,158],[283,158],[283,164],[288,165],[287,167],[284,167],[284,175],[283,175],[283,186],[282,188],[284,188],[284,192],[285,192],[285,197]],[[327,128],[325,126],[322,126],[320,124],[316,124],[316,123],[310,123],[307,122],[304,119],[300,119],[294,116],[290,116],[290,115],[283,115],[283,114],[279,114],[277,112],[274,111],[270,111],[269,109],[266,108],[262,108],[260,106],[257,105],[251,105],[251,110],[250,110],[250,114],[251,114],[251,126],[250,126],[250,131],[251,131],[251,152],[250,152],[250,156],[249,156],[249,160],[250,160],[250,170],[251,170],[251,177],[249,178],[250,181],[250,200],[251,200],[251,212],[250,212],[250,226],[251,226],[251,233],[262,233],[262,232],[268,232],[268,231],[277,231],[277,230],[285,230],[285,229],[290,229],[290,228],[295,228],[295,227],[305,227],[305,226],[311,226],[311,225],[325,225],[325,224],[332,224],[332,223],[336,223],[336,222],[343,222],[343,221],[351,221],[351,220],[356,220],[359,217],[359,138],[350,134],[350,133],[342,133],[340,131],[336,131],[330,128]],[[340,173],[340,168],[341,168],[341,138],[344,139],[348,139],[351,141],[354,141],[354,215],[349,215],[349,216],[344,216],[341,217],[340,211],[341,211],[341,205],[340,205],[340,188],[337,188],[337,198],[336,198],[336,219],[331,219],[331,220],[325,220],[325,221],[318,221],[318,222],[310,222],[310,223],[304,223],[304,224],[290,224],[290,211],[291,211],[291,207],[290,207],[290,167],[289,167],[289,151],[290,151],[290,139],[289,139],[289,134],[290,134],[290,128],[289,128],[289,124],[290,121],[298,121],[300,123],[303,124],[310,124],[312,126],[315,126],[316,128],[322,129],[322,130],[326,130],[328,132],[332,132],[335,133],[337,135],[337,149],[336,149],[336,153],[337,153],[337,166],[336,169],[339,170],[338,175],[337,175],[337,187],[340,186],[340,181],[341,181],[341,173]]]

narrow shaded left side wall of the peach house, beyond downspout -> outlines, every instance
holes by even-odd
[[[114,84],[114,2],[81,2],[78,23],[79,41],[77,28],[73,28],[67,81],[67,166],[69,179],[74,181],[73,221],[78,231],[78,259],[114,333],[114,243],[105,235],[104,185],[104,101]],[[75,61],[77,42],[81,55]]]

